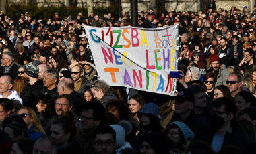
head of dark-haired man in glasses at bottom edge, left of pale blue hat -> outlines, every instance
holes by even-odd
[[[115,130],[108,125],[101,125],[98,127],[93,136],[93,147],[94,153],[116,153],[115,147],[117,141],[115,141],[116,132]]]

